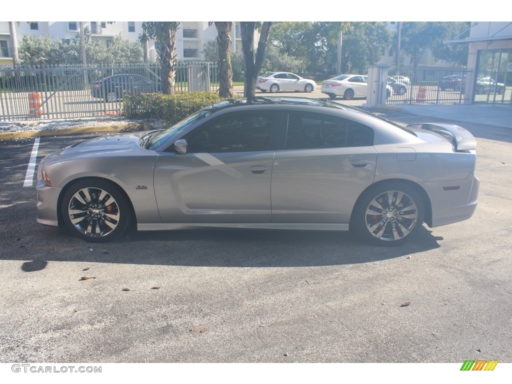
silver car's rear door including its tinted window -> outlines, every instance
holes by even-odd
[[[290,112],[272,169],[272,222],[348,223],[373,182],[373,130],[332,115]]]

